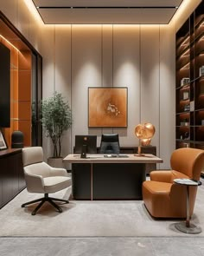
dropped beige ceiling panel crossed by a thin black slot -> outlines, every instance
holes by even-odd
[[[183,0],[32,0],[46,24],[168,24]]]

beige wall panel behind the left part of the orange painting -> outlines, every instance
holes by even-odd
[[[89,134],[88,87],[101,86],[101,30],[101,25],[72,26],[73,145],[75,135]]]

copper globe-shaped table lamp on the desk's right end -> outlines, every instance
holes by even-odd
[[[155,127],[150,122],[140,123],[135,128],[135,135],[139,139],[138,155],[143,155],[141,146],[150,145],[151,138],[155,135]]]

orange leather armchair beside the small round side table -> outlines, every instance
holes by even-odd
[[[186,186],[174,183],[174,179],[200,180],[204,167],[204,150],[179,148],[171,155],[172,170],[150,173],[150,181],[143,182],[143,201],[149,213],[156,218],[186,218]],[[189,187],[190,216],[194,212],[196,187]]]

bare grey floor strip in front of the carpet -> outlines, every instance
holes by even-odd
[[[29,227],[28,227],[29,228]],[[184,237],[7,237],[1,256],[201,256],[204,238]]]

